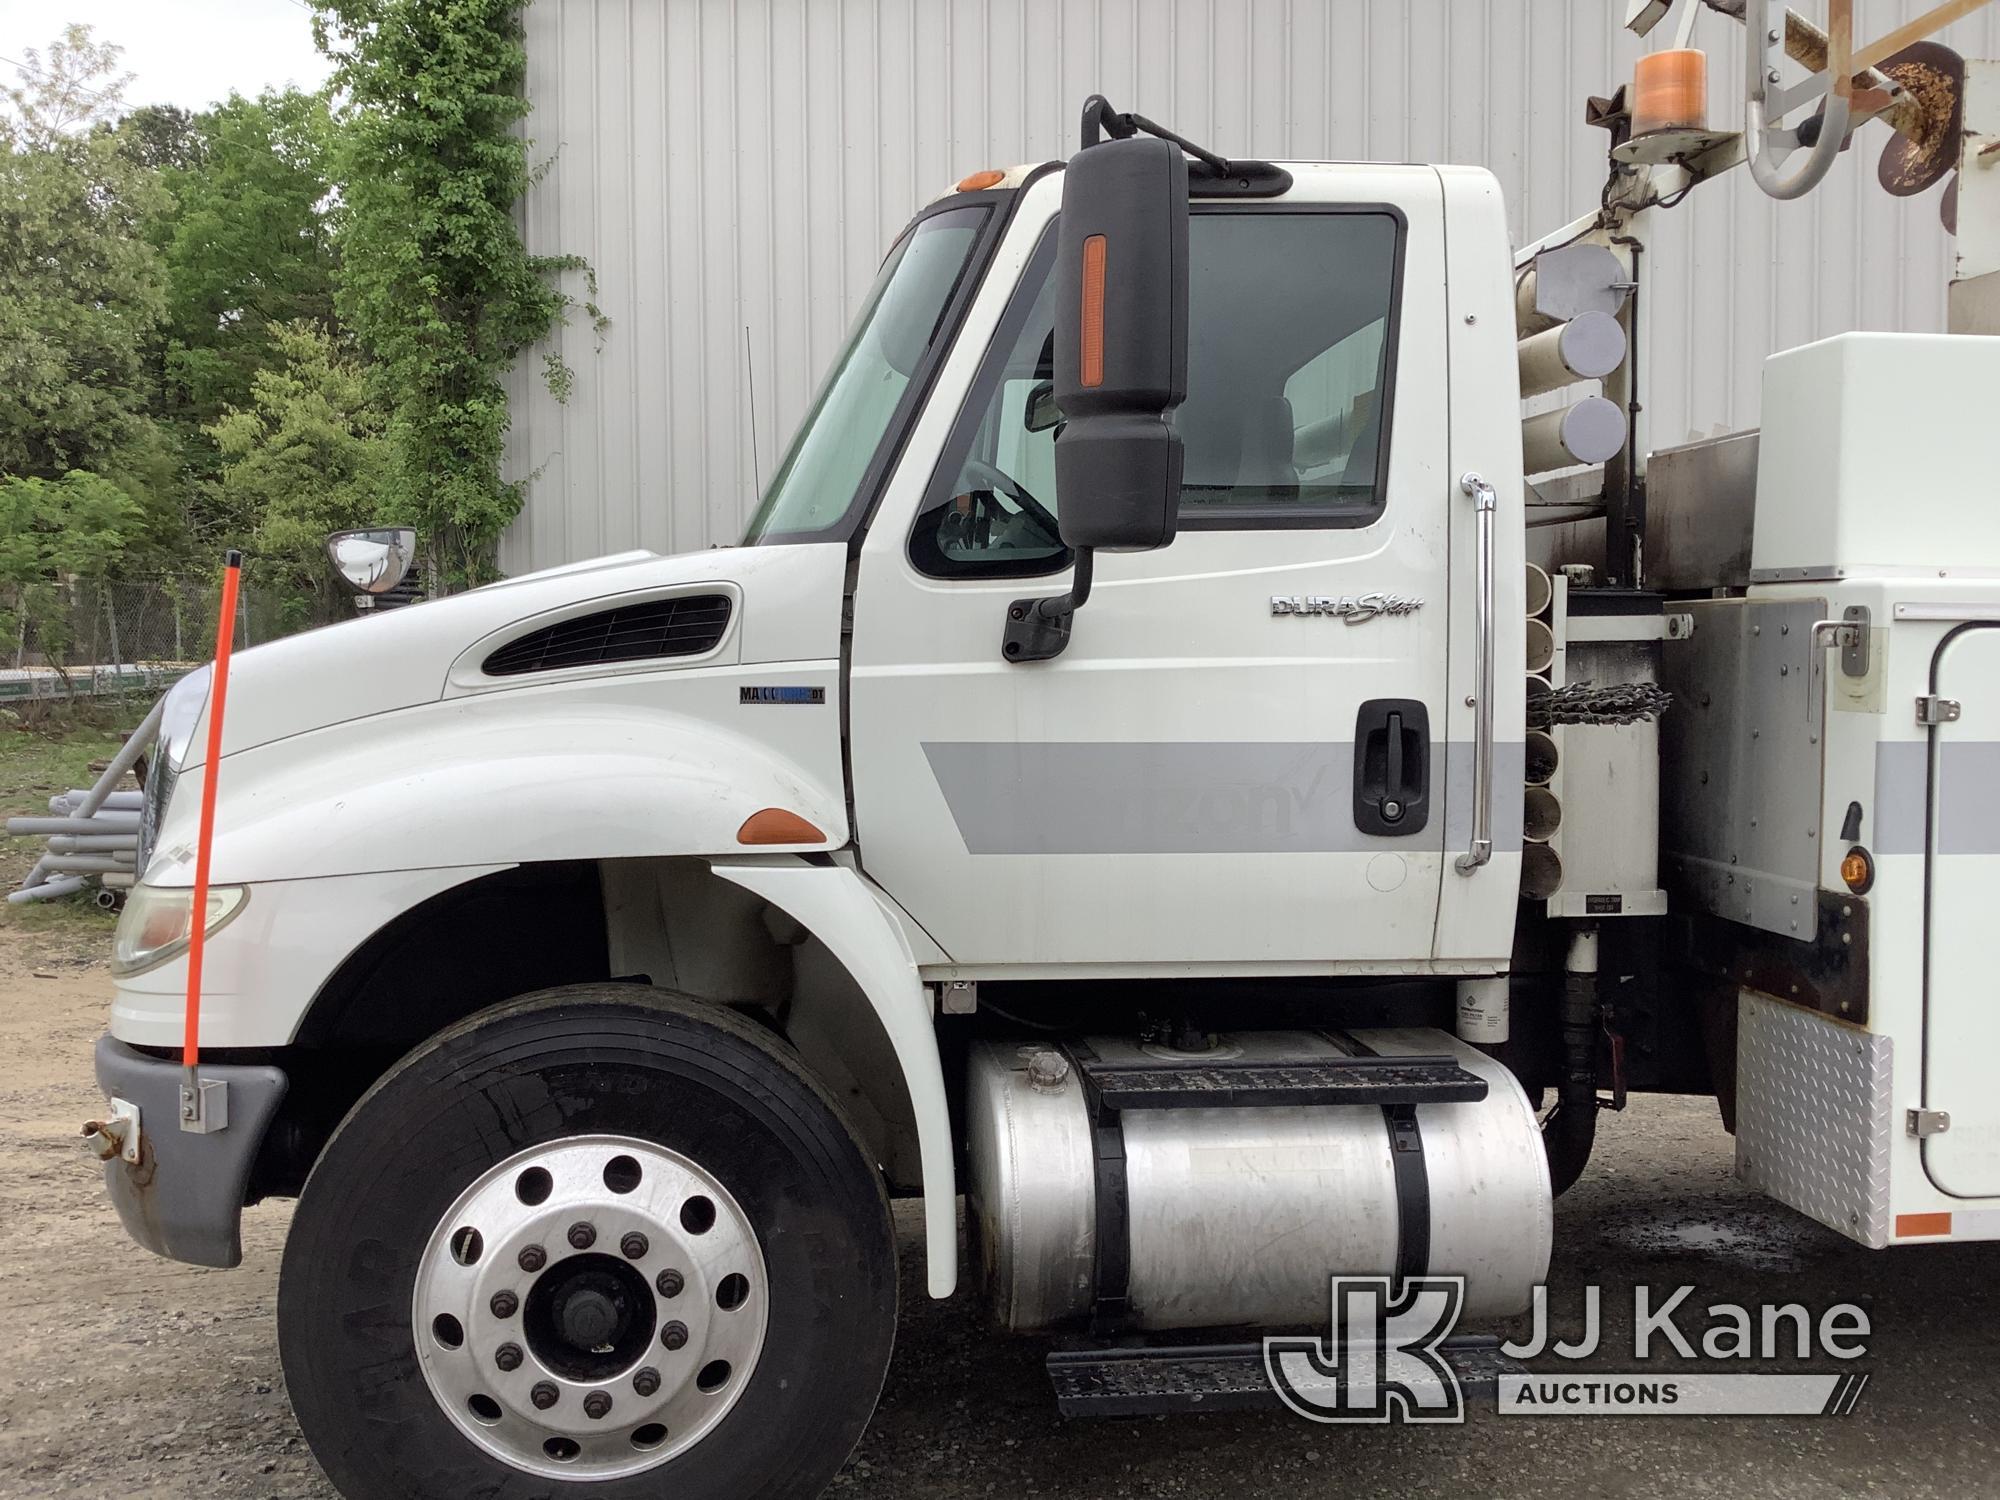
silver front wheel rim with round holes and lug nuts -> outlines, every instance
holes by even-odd
[[[698,1162],[570,1136],[484,1172],[438,1220],[412,1336],[430,1394],[494,1458],[610,1480],[700,1442],[756,1370],[770,1278]]]

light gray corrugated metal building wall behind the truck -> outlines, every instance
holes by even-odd
[[[1874,38],[1930,0],[1860,0]],[[1808,12],[1824,6],[1806,6]],[[1244,156],[1478,162],[1518,240],[1604,180],[1586,94],[1646,50],[1624,0],[534,0],[530,250],[578,254],[610,318],[576,374],[514,376],[510,572],[732,542],[910,212],[982,166],[1062,156],[1102,90]],[[1702,16],[1712,114],[1742,28]],[[2000,16],[1946,32],[2000,56]],[[1654,44],[1664,44],[1658,40]],[[1796,204],[1748,176],[1666,216],[1646,350],[1656,446],[1756,422],[1764,354],[1944,322],[1938,188],[1874,184],[1870,126]],[[580,278],[578,278],[580,282]],[[580,284],[572,290],[584,292]]]

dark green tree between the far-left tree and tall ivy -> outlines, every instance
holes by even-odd
[[[274,324],[334,320],[332,120],[314,94],[232,94],[188,122],[186,146],[146,140],[180,158],[164,172],[164,378],[174,414],[202,426],[250,398],[278,358]]]

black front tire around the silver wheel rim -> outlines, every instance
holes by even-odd
[[[416,1266],[464,1188],[564,1136],[656,1142],[712,1172],[764,1250],[770,1320],[736,1406],[666,1464],[550,1482],[474,1446],[426,1384]],[[526,996],[440,1034],[348,1114],[292,1220],[278,1342],[348,1500],[814,1496],[874,1412],[896,1336],[882,1178],[832,1098],[740,1016],[636,986]]]

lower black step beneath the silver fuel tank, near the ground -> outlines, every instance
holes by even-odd
[[[1498,1338],[1486,1334],[1446,1338],[1438,1354],[1468,1398],[1490,1396],[1500,1376],[1526,1372],[1500,1352]],[[1064,1416],[1268,1412],[1282,1406],[1264,1374],[1262,1344],[1054,1350],[1048,1380]]]

